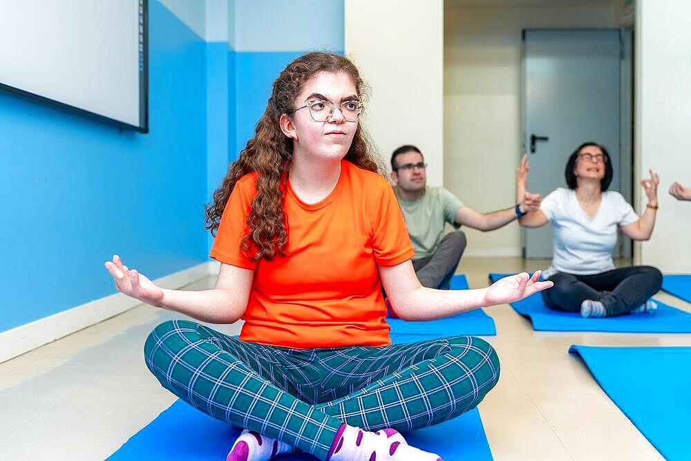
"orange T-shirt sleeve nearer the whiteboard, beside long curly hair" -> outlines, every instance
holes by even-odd
[[[255,259],[247,257],[240,249],[243,236],[247,234],[247,216],[252,209],[252,200],[256,196],[254,175],[240,178],[231,192],[223,210],[218,232],[211,246],[209,256],[220,263],[254,270],[257,265]],[[256,246],[249,245],[248,254],[256,252]]]

